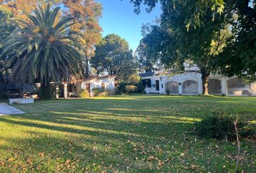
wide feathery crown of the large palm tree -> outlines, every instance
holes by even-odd
[[[11,68],[12,80],[34,83],[49,88],[51,81],[82,78],[82,35],[70,29],[71,16],[59,19],[59,7],[48,4],[27,14],[29,22],[19,20],[20,27],[4,41],[0,61]]]

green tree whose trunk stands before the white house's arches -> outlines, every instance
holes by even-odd
[[[177,73],[184,70],[185,62],[196,65],[202,74],[203,92],[208,94],[208,77],[215,71],[213,61],[230,36],[229,26],[223,25],[221,17],[208,22],[212,12],[205,4],[202,20],[208,25],[188,30],[184,19],[191,13],[192,6],[196,7],[194,2],[187,1],[186,6],[176,3],[172,9],[168,8],[161,16],[161,25],[153,26],[142,41],[149,58],[160,58],[167,68],[176,69]]]

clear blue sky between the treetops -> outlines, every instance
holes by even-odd
[[[149,14],[142,7],[141,14],[133,12],[134,6],[129,0],[95,0],[102,4],[103,15],[100,19],[103,28],[103,37],[108,34],[116,34],[128,41],[129,47],[136,50],[140,43],[141,26],[148,22],[153,22],[156,17],[160,17],[161,7],[156,6]]]

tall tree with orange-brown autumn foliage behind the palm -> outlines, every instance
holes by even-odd
[[[27,20],[27,22],[29,19],[23,11],[30,13],[34,6],[38,6],[38,4],[46,6],[47,3],[61,7],[65,15],[72,14],[74,16],[75,24],[71,27],[72,30],[81,32],[84,36],[84,40],[80,44],[83,47],[81,51],[84,56],[85,76],[88,77],[90,57],[94,54],[95,44],[101,40],[102,29],[98,23],[98,19],[101,17],[101,4],[95,0],[0,0],[0,4],[12,10],[15,17]]]

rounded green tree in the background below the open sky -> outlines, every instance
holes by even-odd
[[[96,46],[92,65],[98,74],[116,75],[119,81],[126,80],[137,70],[137,63],[129,44],[114,34],[106,35]]]

